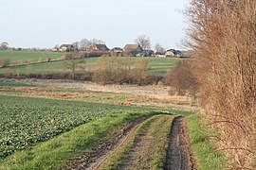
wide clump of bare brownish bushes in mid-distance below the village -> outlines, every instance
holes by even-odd
[[[148,82],[148,60],[121,57],[101,57],[97,63],[93,81],[105,84],[137,84]]]

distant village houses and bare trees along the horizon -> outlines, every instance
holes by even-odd
[[[83,41],[83,42],[82,42]],[[8,42],[2,42],[0,44],[0,50],[9,51],[52,51],[52,52],[72,52],[82,51],[84,57],[105,57],[105,56],[119,56],[119,57],[158,57],[158,58],[190,58],[190,51],[181,51],[177,49],[165,49],[160,44],[155,44],[155,50],[152,50],[148,45],[145,47],[138,43],[126,44],[124,47],[108,48],[107,45],[101,40],[86,40],[81,42],[64,43],[61,45],[55,45],[50,49],[42,48],[15,48],[9,47]],[[145,41],[145,40],[143,40]]]

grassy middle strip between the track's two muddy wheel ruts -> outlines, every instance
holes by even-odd
[[[128,159],[119,169],[158,169],[156,161],[160,162],[159,153],[164,152],[168,139],[167,127],[170,127],[173,117],[160,116],[148,121],[135,139],[134,148],[128,153]]]

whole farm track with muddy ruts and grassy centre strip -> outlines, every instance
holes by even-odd
[[[129,147],[131,141],[132,147]],[[107,164],[113,162],[113,156],[122,153],[119,152],[122,148],[128,152],[114,169],[197,169],[187,120],[183,116],[170,115],[141,117],[120,127],[108,142],[94,152],[84,154],[67,169],[109,169]]]

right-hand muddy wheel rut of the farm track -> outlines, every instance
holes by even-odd
[[[174,118],[170,139],[165,169],[197,169],[196,161],[192,154],[189,128],[185,117],[178,116]]]

